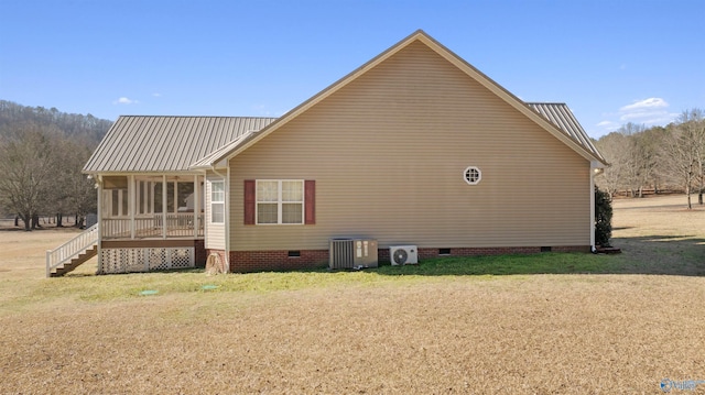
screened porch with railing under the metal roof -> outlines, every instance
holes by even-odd
[[[104,176],[99,186],[102,240],[204,238],[200,175]]]

